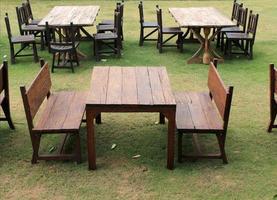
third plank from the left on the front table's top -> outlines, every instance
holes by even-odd
[[[122,68],[122,104],[138,104],[136,70],[133,67]]]

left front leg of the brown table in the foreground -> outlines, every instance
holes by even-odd
[[[88,165],[89,170],[96,169],[96,154],[95,154],[95,137],[94,137],[94,118],[95,114],[87,109],[86,119],[87,119],[87,149],[88,149]]]

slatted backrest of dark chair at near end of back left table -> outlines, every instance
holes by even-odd
[[[71,46],[75,48],[76,29],[71,22],[70,26],[50,26],[48,22],[45,23],[46,41],[49,45],[49,52],[51,52],[51,45]]]

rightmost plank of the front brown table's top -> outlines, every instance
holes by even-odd
[[[165,67],[159,67],[159,76],[160,76],[161,86],[163,88],[165,104],[176,105],[175,98],[171,90],[168,74]]]

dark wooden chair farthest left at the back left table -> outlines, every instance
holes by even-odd
[[[38,62],[38,54],[37,54],[35,36],[32,34],[13,36],[12,32],[11,32],[11,26],[10,26],[10,20],[8,17],[8,13],[6,13],[6,16],[5,16],[5,23],[6,23],[7,34],[8,34],[9,43],[10,43],[11,63],[12,64],[15,63],[16,57],[23,57],[23,56],[34,56],[35,62]],[[17,44],[20,44],[21,48],[17,52],[15,52],[14,46]],[[20,54],[29,45],[32,45],[32,47],[33,47],[33,54]]]

